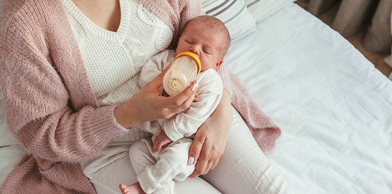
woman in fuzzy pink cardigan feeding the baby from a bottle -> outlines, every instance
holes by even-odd
[[[117,183],[136,182],[126,153],[132,141],[109,143],[127,132],[142,137],[129,128],[187,109],[195,91],[157,95],[162,73],[133,96],[119,96],[122,105],[105,102],[105,94],[137,79],[144,61],[173,47],[200,13],[194,1],[4,1],[0,80],[9,128],[27,155],[1,191],[116,193]],[[198,160],[191,177],[205,180],[188,178],[177,192],[286,192],[246,128],[225,90],[189,151]]]

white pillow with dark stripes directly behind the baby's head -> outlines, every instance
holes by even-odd
[[[244,0],[200,0],[203,11],[225,23],[231,39],[251,32],[256,23]]]

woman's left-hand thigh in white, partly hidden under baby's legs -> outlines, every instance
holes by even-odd
[[[79,162],[84,174],[90,179],[98,194],[119,193],[119,183],[137,182],[136,172],[129,159],[130,145],[109,146],[93,159]],[[220,193],[200,177],[174,180],[176,193]]]

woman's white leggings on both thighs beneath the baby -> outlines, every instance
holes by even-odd
[[[93,159],[80,162],[97,193],[119,193],[119,183],[137,182],[128,145],[111,145]],[[226,150],[207,175],[174,180],[176,193],[288,193],[288,186],[260,150],[241,116],[233,108],[233,125]]]

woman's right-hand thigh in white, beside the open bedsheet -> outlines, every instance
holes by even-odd
[[[217,167],[203,179],[226,194],[288,192],[285,181],[271,166],[234,108],[225,153]]]

